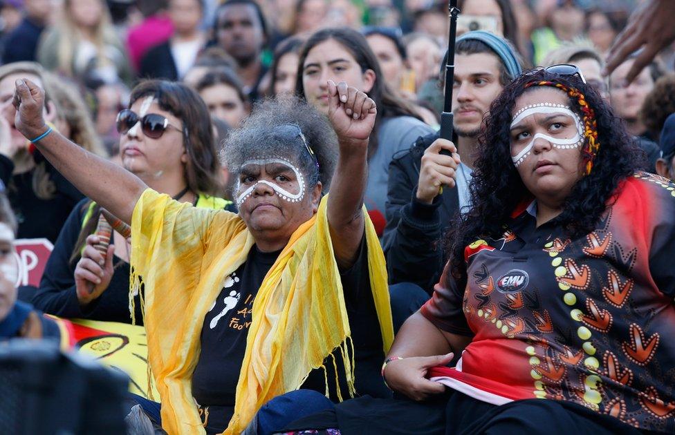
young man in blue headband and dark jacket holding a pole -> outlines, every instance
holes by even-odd
[[[521,73],[519,55],[505,39],[489,32],[467,32],[457,39],[455,55],[454,144],[438,133],[420,137],[389,166],[387,255],[394,323],[420,307],[443,270],[438,240],[452,218],[465,210],[483,115],[504,86]],[[445,77],[445,60],[441,77]],[[450,86],[447,85],[446,86]],[[459,149],[461,164],[439,151]],[[439,195],[441,184],[446,185]],[[399,284],[402,283],[402,284]],[[410,296],[410,284],[422,287]],[[410,298],[416,301],[410,301]],[[400,301],[400,302],[399,302]],[[411,304],[410,302],[415,302]],[[402,309],[398,306],[403,305]],[[398,322],[397,322],[398,320]]]

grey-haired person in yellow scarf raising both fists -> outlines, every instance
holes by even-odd
[[[159,195],[50,132],[35,109],[44,94],[17,81],[20,131],[131,224],[131,291],[145,289],[162,403],[152,418],[169,433],[239,434],[262,405],[301,387],[286,411],[387,394],[378,374],[393,340],[386,271],[362,206],[377,108],[344,82],[329,91],[333,128],[309,106],[270,102],[230,134],[234,215]],[[252,430],[282,423],[261,418]]]

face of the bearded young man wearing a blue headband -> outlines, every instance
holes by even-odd
[[[459,136],[474,137],[490,110],[492,100],[501,93],[501,61],[490,53],[456,55],[454,59],[452,113]],[[446,85],[447,86],[447,85]]]

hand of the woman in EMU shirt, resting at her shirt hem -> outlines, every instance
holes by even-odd
[[[445,385],[425,378],[427,370],[446,365],[452,360],[452,352],[447,355],[412,356],[387,363],[384,375],[389,388],[405,394],[413,400],[426,400],[430,396],[445,392]]]

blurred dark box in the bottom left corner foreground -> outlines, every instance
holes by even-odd
[[[0,435],[125,434],[129,378],[55,341],[0,344]]]

